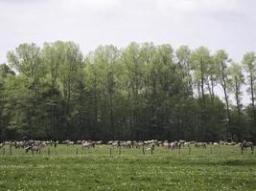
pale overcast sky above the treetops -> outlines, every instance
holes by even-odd
[[[82,53],[131,41],[256,52],[255,0],[0,0],[0,63],[19,44],[74,41]]]

